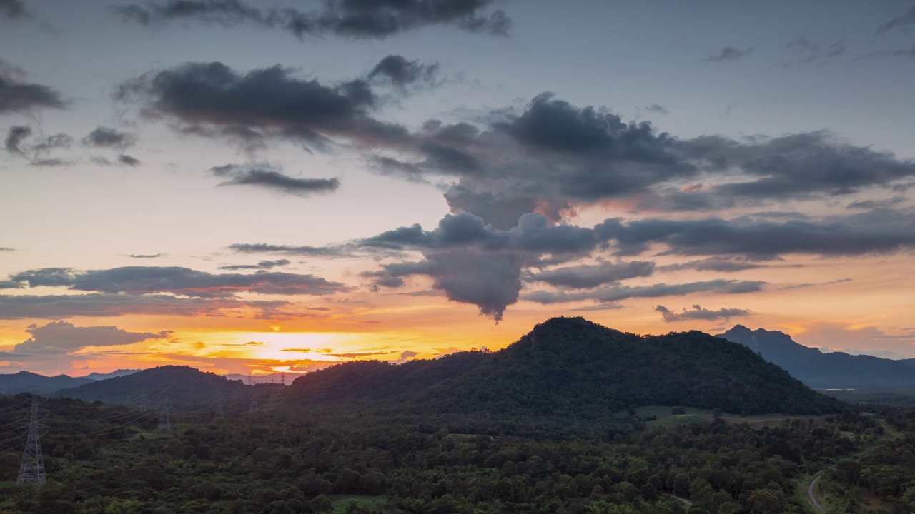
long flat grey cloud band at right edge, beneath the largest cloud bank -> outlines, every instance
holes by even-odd
[[[825,256],[898,252],[915,247],[915,215],[875,209],[821,222],[738,220],[606,220],[595,227],[616,241],[623,255],[662,243],[679,255],[743,255],[770,258],[784,253]]]

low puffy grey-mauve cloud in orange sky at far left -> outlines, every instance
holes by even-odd
[[[13,351],[41,356],[71,354],[86,347],[131,345],[148,339],[161,339],[171,334],[169,330],[153,334],[127,332],[118,327],[76,327],[66,321],[53,321],[44,327],[31,325],[26,331],[32,337],[17,344]]]

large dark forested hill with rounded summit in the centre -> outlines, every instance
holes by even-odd
[[[662,404],[744,413],[837,412],[755,352],[701,332],[641,337],[557,317],[499,351],[402,366],[342,364],[296,380],[296,402],[388,401],[423,412],[600,416]]]

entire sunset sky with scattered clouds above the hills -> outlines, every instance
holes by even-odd
[[[0,0],[0,373],[915,358],[913,83],[911,1]]]

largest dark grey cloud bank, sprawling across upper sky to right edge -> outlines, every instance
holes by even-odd
[[[851,195],[915,178],[915,161],[847,145],[828,132],[678,139],[549,93],[522,112],[490,112],[479,126],[430,120],[416,131],[374,117],[379,101],[367,80],[328,86],[278,66],[240,73],[189,63],[129,82],[124,98],[186,132],[251,145],[269,137],[317,148],[352,144],[385,174],[457,178],[446,193],[452,211],[500,229],[524,213],[558,221],[576,206],[608,199],[650,210],[727,209]],[[278,184],[283,177],[246,180]]]

